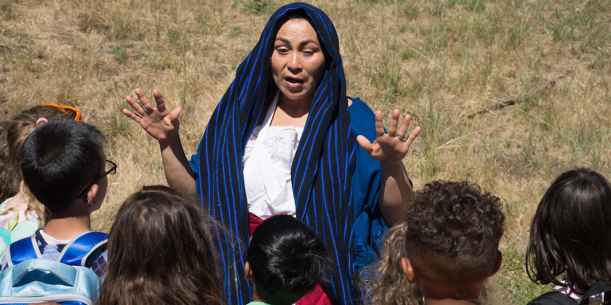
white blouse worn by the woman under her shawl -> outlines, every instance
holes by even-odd
[[[242,159],[248,210],[262,219],[296,214],[291,165],[303,127],[269,126],[277,102],[276,95],[263,124],[252,131]]]

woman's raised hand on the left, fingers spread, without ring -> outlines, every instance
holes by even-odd
[[[136,88],[134,92],[140,104],[134,101],[131,96],[126,96],[125,99],[137,114],[127,109],[123,109],[123,113],[139,123],[142,129],[159,142],[164,142],[178,136],[178,115],[180,115],[182,109],[176,107],[171,112],[167,111],[159,90],[153,90],[153,97],[155,98],[157,108],[153,108],[153,105],[144,96],[144,92],[140,88]]]

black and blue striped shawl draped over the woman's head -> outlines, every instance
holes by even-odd
[[[245,304],[251,287],[244,281],[244,262],[249,240],[249,212],[244,193],[242,157],[257,122],[265,115],[265,98],[277,90],[270,81],[271,54],[276,32],[288,15],[302,10],[321,41],[326,70],[314,95],[307,123],[291,167],[291,182],[299,220],[325,240],[331,270],[324,290],[334,304],[362,300],[354,285],[353,209],[351,174],[355,141],[351,135],[346,100],[346,80],[337,32],[329,17],[310,4],[280,7],[271,16],[249,56],[219,102],[201,143],[198,179],[202,209],[229,230],[213,241],[222,256],[219,278],[228,304]],[[232,242],[237,237],[238,242]],[[359,296],[357,298],[357,295]]]

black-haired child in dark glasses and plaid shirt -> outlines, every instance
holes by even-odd
[[[0,270],[26,260],[19,251],[29,243],[35,245],[38,256],[30,258],[60,260],[102,274],[108,235],[89,233],[90,215],[100,208],[106,195],[107,176],[117,169],[115,163],[106,160],[104,140],[98,129],[75,120],[49,121],[27,136],[19,153],[23,181],[49,210],[49,220],[32,237],[8,246]],[[67,257],[74,254],[65,248],[76,242],[90,249],[80,256]]]

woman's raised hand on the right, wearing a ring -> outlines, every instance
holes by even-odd
[[[390,116],[390,126],[388,132],[384,132],[384,124],[382,123],[382,112],[376,112],[376,139],[373,143],[364,135],[356,137],[359,145],[368,152],[373,159],[380,160],[390,164],[398,164],[408,154],[409,146],[414,142],[415,138],[420,134],[420,126],[414,128],[409,136],[408,127],[411,120],[410,115],[403,116],[403,123],[399,125],[399,110],[395,109]]]

